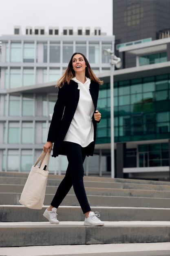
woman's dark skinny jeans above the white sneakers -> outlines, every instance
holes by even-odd
[[[88,199],[83,183],[83,163],[86,158],[85,148],[82,148],[82,146],[73,142],[64,141],[63,143],[66,148],[68,167],[66,170],[66,175],[58,186],[57,192],[51,202],[51,205],[55,208],[58,208],[73,185],[75,195],[79,201],[82,211],[83,213],[86,213],[91,211],[91,207],[88,204]]]

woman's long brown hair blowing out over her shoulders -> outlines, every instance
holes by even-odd
[[[57,81],[56,87],[61,88],[64,83],[70,83],[70,80],[75,77],[75,71],[73,70],[73,57],[76,54],[80,54],[82,55],[82,57],[84,58],[84,61],[86,63],[86,70],[85,70],[85,76],[90,78],[92,81],[95,81],[96,83],[99,83],[100,85],[103,84],[103,81],[99,80],[97,78],[97,76],[94,74],[93,70],[91,69],[91,66],[87,60],[87,58],[84,56],[84,54],[80,53],[80,52],[75,52],[72,56],[71,56],[71,60],[68,63],[68,67],[65,70],[64,74],[62,75],[62,77]]]

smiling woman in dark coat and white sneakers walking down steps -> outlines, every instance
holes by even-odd
[[[55,103],[53,117],[44,152],[51,152],[53,157],[66,155],[68,167],[66,175],[51,202],[44,212],[50,223],[59,224],[57,208],[73,185],[75,195],[85,214],[84,225],[103,226],[97,218],[99,214],[91,211],[84,189],[84,159],[93,155],[96,138],[96,124],[101,119],[97,108],[99,84],[86,57],[74,53],[61,79],[57,82],[58,99]]]

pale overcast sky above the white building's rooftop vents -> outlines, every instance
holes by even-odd
[[[113,0],[0,0],[0,36],[13,34],[14,25],[20,25],[22,34],[26,26],[60,28],[101,27],[112,35]]]

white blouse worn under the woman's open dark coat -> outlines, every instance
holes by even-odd
[[[89,91],[91,79],[86,77],[85,83],[81,83],[75,77],[72,80],[78,83],[78,89],[80,90],[79,102],[64,141],[74,142],[86,147],[94,141],[92,117],[95,107]]]

